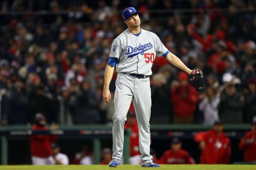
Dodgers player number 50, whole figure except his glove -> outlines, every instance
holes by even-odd
[[[131,101],[137,114],[139,129],[139,150],[142,167],[159,167],[150,155],[150,109],[151,92],[149,76],[157,56],[164,56],[174,66],[190,74],[192,70],[163,45],[155,33],[140,28],[140,17],[134,7],[122,13],[128,29],[114,41],[105,70],[103,100],[110,102],[109,83],[116,67],[117,80],[114,95],[113,155],[110,167],[117,167],[123,155],[124,123]]]

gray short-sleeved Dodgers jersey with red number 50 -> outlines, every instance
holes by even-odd
[[[137,37],[126,29],[114,40],[109,56],[118,58],[118,73],[151,75],[155,57],[166,52],[167,48],[155,33],[141,29]]]

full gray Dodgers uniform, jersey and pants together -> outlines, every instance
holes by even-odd
[[[135,78],[122,73],[151,75],[156,56],[167,55],[169,51],[153,32],[141,29],[139,36],[127,29],[121,33],[111,47],[110,57],[118,58],[116,90],[113,115],[113,158],[122,159],[124,123],[131,101],[137,115],[141,163],[152,162],[150,152],[151,90],[149,78]]]

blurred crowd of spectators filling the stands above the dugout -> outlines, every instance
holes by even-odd
[[[31,124],[38,112],[49,123],[111,122],[114,105],[101,97],[103,73],[111,42],[126,29],[121,12],[128,6],[140,11],[141,28],[205,77],[204,91],[197,92],[187,74],[157,57],[152,123],[250,123],[256,113],[254,2],[1,1],[1,125]]]

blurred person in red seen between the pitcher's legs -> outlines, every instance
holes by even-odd
[[[124,129],[131,129],[130,136],[130,164],[140,164],[140,150],[139,150],[139,131],[135,112],[129,111],[127,113],[127,120],[124,124]]]

